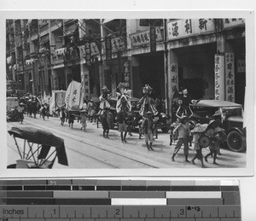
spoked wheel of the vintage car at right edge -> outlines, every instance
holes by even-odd
[[[246,148],[246,137],[241,135],[238,131],[230,131],[227,137],[227,143],[230,150],[242,152]]]

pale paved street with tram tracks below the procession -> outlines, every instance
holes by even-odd
[[[24,125],[18,122],[7,123],[7,130],[12,126],[32,126],[38,129],[51,131],[55,136],[61,137],[65,141],[67,159],[69,166],[61,166],[55,161],[53,168],[196,168],[201,163],[195,160],[195,165],[185,163],[183,150],[177,154],[175,162],[172,162],[172,152],[174,145],[169,146],[169,134],[159,133],[155,140],[154,151],[148,151],[143,139],[138,138],[137,133],[127,137],[127,143],[122,143],[119,132],[111,130],[109,139],[102,137],[102,128],[97,128],[96,123],[88,123],[86,131],[80,131],[80,124],[75,121],[73,129],[68,124],[60,124],[60,119],[32,119],[26,116]],[[8,165],[14,164],[19,159],[19,154],[15,148],[15,142],[7,133],[8,145]],[[206,155],[209,150],[203,149]],[[246,154],[234,153],[227,149],[221,150],[222,155],[218,156],[218,166],[212,165],[212,159],[208,159],[205,165],[207,168],[236,168],[246,166]],[[195,151],[189,151],[189,159],[194,156]]]

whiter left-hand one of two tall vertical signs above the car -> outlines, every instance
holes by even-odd
[[[214,61],[215,100],[224,101],[224,55],[215,55]]]

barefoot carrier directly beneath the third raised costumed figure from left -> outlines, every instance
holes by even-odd
[[[154,148],[152,148],[154,122],[153,113],[151,111],[144,113],[142,128],[144,131],[145,142],[148,150],[154,150]]]

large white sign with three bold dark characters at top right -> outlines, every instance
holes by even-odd
[[[210,19],[183,19],[167,23],[168,40],[211,32],[214,29],[214,23]]]

